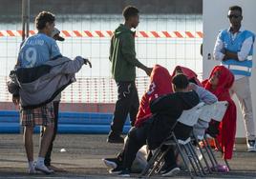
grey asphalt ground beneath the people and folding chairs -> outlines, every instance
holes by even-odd
[[[23,136],[0,134],[0,178],[118,178],[108,173],[101,159],[114,156],[122,145],[108,144],[106,138],[107,135],[59,134],[54,142],[52,156],[52,164],[57,171],[51,175],[29,175]],[[38,134],[34,134],[34,159],[38,153],[38,141]],[[256,178],[256,152],[247,152],[245,149],[245,144],[236,144],[228,173],[211,174],[204,178]],[[218,160],[222,161],[220,156]],[[132,174],[132,178],[138,176]],[[175,178],[189,177],[182,173]]]

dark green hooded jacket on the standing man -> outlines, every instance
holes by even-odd
[[[135,32],[120,24],[111,39],[109,60],[112,76],[117,82],[135,81],[136,67],[144,65],[136,58]]]

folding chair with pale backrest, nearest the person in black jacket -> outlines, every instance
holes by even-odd
[[[178,119],[178,122],[181,123],[181,125],[183,125],[184,127],[190,127],[192,131],[193,126],[197,123],[199,119],[199,115],[202,110],[202,107],[203,107],[203,103],[200,103],[192,109],[183,110],[183,112],[181,113],[181,117]],[[191,138],[190,138],[191,131],[189,132],[189,135],[186,136],[187,138],[185,140],[181,140],[179,136],[175,135],[174,129],[171,130],[170,135],[161,143],[160,148],[156,149],[152,158],[149,160],[146,168],[143,169],[143,171],[141,172],[140,176],[145,176],[149,171],[149,169],[153,167],[153,169],[151,169],[150,172],[147,174],[147,176],[151,176],[151,174],[155,172],[155,170],[159,167],[162,158],[172,146],[178,147],[178,151],[181,154],[181,158],[185,164],[186,169],[189,171],[191,178],[193,178],[193,175],[186,163],[185,154],[188,157],[189,162],[192,168],[194,169],[196,175],[198,175],[197,169],[199,169],[201,175],[203,175],[202,170],[198,166],[197,158],[195,158],[195,155],[189,146],[189,143],[191,141]],[[161,151],[163,146],[167,146],[168,148],[165,149],[164,151]],[[181,146],[183,147],[185,154],[183,153]],[[194,162],[192,161],[192,159],[194,160]]]

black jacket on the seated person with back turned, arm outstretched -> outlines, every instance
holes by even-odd
[[[150,109],[154,117],[147,138],[149,149],[158,148],[176,125],[182,111],[192,109],[199,102],[199,96],[194,90],[167,94],[153,101]]]

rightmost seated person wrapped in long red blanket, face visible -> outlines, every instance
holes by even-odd
[[[224,66],[216,66],[210,73],[210,77],[203,81],[204,89],[208,89],[214,93],[219,101],[227,101],[228,108],[225,111],[224,119],[220,124],[217,124],[219,133],[217,140],[224,151],[224,159],[231,159],[233,146],[236,135],[236,105],[231,99],[229,89],[234,82],[234,75]],[[214,125],[214,124],[210,124]]]

